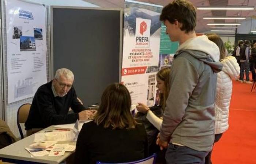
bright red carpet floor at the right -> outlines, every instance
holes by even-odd
[[[229,129],[214,145],[213,164],[256,164],[256,90],[233,82]]]

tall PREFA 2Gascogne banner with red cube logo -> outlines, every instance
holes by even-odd
[[[125,1],[121,81],[128,88],[135,105],[142,102],[153,106],[155,103],[161,11],[162,6],[159,5]]]

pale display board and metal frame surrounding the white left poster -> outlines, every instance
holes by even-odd
[[[15,113],[17,112],[18,108],[20,105],[24,103],[31,103],[33,97],[22,99],[20,101],[12,102],[10,104],[7,103],[7,94],[8,94],[8,79],[7,79],[7,34],[6,34],[6,16],[5,16],[5,4],[8,0],[0,0],[1,1],[1,45],[0,45],[0,50],[1,50],[1,56],[0,56],[0,118],[2,118],[7,124],[10,126],[12,132],[14,134],[19,135],[18,128],[16,127],[16,116]],[[39,4],[39,3],[34,3],[26,0],[19,0],[23,1],[29,4],[36,4],[40,6],[45,6],[44,4]],[[49,7],[46,7],[46,44],[47,44],[47,54],[46,54],[46,75],[47,79],[49,81],[50,77],[50,31],[49,31]],[[8,111],[7,111],[8,110]]]

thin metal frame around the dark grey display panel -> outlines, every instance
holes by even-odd
[[[99,8],[99,7],[74,7],[74,6],[50,6],[50,51],[51,51],[51,79],[54,77],[53,72],[53,9],[54,8],[68,8],[68,9],[87,9],[87,10],[109,10],[120,11],[120,44],[119,44],[119,82],[121,82],[121,70],[122,70],[122,50],[123,50],[123,9],[122,8]]]

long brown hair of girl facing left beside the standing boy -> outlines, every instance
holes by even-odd
[[[170,91],[170,72],[171,69],[170,67],[165,67],[158,71],[157,77],[161,79],[164,82],[165,85],[165,90],[163,93],[160,93],[159,98],[160,98],[160,105],[162,105],[162,109],[165,109],[165,102],[166,99],[168,98],[169,91]]]

